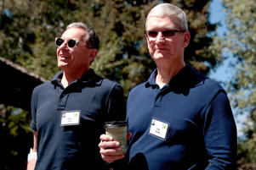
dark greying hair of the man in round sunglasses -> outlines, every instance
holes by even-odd
[[[66,26],[65,30],[71,29],[71,28],[81,28],[82,30],[85,30],[88,34],[88,36],[85,37],[86,45],[88,48],[97,49],[99,50],[100,47],[100,39],[95,30],[93,30],[88,25],[83,24],[82,22],[75,22],[71,23],[70,25]]]

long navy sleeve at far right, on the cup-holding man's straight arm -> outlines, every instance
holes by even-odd
[[[236,123],[225,91],[220,91],[207,108],[203,127],[208,153],[206,170],[235,169]]]

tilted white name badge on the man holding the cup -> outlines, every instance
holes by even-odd
[[[168,134],[169,124],[162,121],[156,120],[155,118],[151,121],[150,134],[160,137],[162,140],[166,139]]]

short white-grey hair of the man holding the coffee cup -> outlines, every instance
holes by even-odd
[[[145,20],[145,29],[147,29],[148,19],[152,16],[167,16],[174,17],[175,25],[179,26],[181,30],[188,30],[188,21],[186,19],[185,12],[170,3],[160,3],[154,8],[151,8],[151,11],[146,17]]]

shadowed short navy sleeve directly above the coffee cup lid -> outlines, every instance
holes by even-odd
[[[115,85],[107,100],[108,118],[106,121],[125,120],[126,106],[121,85]]]

